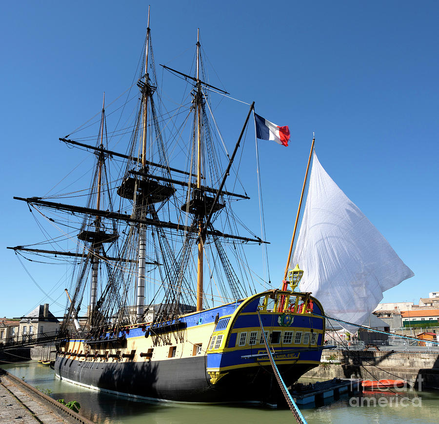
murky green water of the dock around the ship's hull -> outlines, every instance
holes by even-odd
[[[20,365],[2,365],[17,377],[40,389],[49,389],[55,399],[66,402],[78,401],[80,414],[96,423],[123,424],[268,424],[295,423],[289,410],[266,409],[248,405],[180,405],[136,402],[90,390],[75,384],[60,381],[54,371],[40,363],[31,362]],[[309,424],[402,424],[438,423],[439,392],[402,392],[403,397],[395,398],[387,394],[370,395],[363,406],[361,399],[342,397],[338,401],[328,401],[318,408],[301,407]],[[392,401],[391,399],[392,398]],[[373,406],[375,399],[376,406]],[[402,402],[402,403],[401,403]],[[380,405],[379,405],[380,403]]]

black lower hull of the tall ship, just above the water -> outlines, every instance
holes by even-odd
[[[279,366],[279,371],[288,386],[315,366],[288,364]],[[61,379],[72,383],[145,400],[268,404],[277,404],[281,400],[270,365],[237,368],[217,384],[211,384],[204,356],[125,363],[85,362],[58,356],[55,371]]]

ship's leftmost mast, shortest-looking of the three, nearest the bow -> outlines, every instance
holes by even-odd
[[[102,117],[100,119],[100,148],[103,148],[103,130],[104,130],[104,117],[105,117],[105,92],[102,99]],[[96,199],[96,209],[100,209],[100,193],[102,190],[102,162],[104,160],[103,153],[100,152],[98,156],[98,192]],[[100,216],[96,215],[95,229],[96,234],[100,231]],[[90,312],[89,316],[92,316],[93,310],[96,308],[96,302],[98,297],[98,269],[99,269],[99,250],[100,244],[93,243],[93,256],[92,256],[92,282],[90,286]]]

